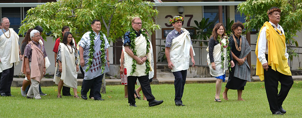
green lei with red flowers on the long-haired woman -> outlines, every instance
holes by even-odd
[[[226,38],[226,43],[224,44],[224,43],[222,43],[221,42],[221,40],[223,39],[223,38]],[[227,58],[227,60],[229,60],[229,63],[228,63],[228,67],[229,67],[229,70],[231,71],[231,59],[230,59],[230,54],[231,54],[231,47],[229,46],[229,38],[228,37],[226,37],[226,36],[223,36],[223,38],[220,38],[219,36],[217,37],[217,41],[220,43],[220,46],[221,46],[221,68],[223,68],[223,62],[224,62],[224,50],[223,50],[223,48],[226,48],[226,54],[227,54],[227,56],[226,56],[226,58]]]

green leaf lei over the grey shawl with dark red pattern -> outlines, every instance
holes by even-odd
[[[102,69],[102,73],[104,72],[104,69],[105,69],[105,64],[106,64],[106,59],[105,59],[105,52],[106,52],[106,49],[105,49],[105,39],[104,39],[104,36],[103,36],[103,33],[100,31],[100,40],[102,41],[101,42],[101,69]],[[88,67],[86,67],[86,72],[89,70],[90,66],[92,65],[92,62],[93,62],[93,54],[95,53],[95,50],[94,50],[94,40],[95,40],[95,33],[93,30],[90,30],[90,34],[89,34],[89,38],[90,38],[90,47],[89,47],[89,53],[88,53],[88,56],[89,56],[89,59],[88,59]]]

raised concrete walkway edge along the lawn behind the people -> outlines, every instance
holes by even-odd
[[[294,81],[302,81],[302,75],[294,75],[292,76]],[[227,77],[226,77],[226,82],[227,82]],[[21,87],[22,82],[24,78],[14,78],[11,86],[13,87]],[[258,76],[252,77],[252,82],[254,81],[260,81]],[[78,86],[82,85],[83,79],[78,79]],[[186,84],[191,84],[191,83],[215,83],[216,78],[187,78],[186,79]],[[152,84],[174,84],[174,78],[158,78],[158,79],[153,79]],[[106,85],[121,85],[120,79],[106,79]],[[41,80],[41,86],[56,86],[55,82],[53,82],[53,78],[47,79],[47,78],[42,78]]]

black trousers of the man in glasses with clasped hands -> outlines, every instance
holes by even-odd
[[[135,103],[134,98],[134,89],[135,89],[135,82],[138,79],[140,81],[140,86],[142,87],[142,91],[147,98],[147,101],[155,100],[155,97],[152,95],[150,83],[149,83],[149,75],[145,76],[128,76],[128,103]]]

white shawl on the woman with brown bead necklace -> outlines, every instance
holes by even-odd
[[[74,52],[71,54],[69,53],[69,49],[71,49],[71,46],[67,47],[64,43],[60,43],[60,46],[61,46],[62,73],[61,73],[61,78],[54,76],[53,81],[56,84],[59,84],[59,81],[62,80],[64,86],[67,86],[69,88],[77,88],[78,73],[76,72],[76,60],[74,56],[76,50],[74,50]],[[56,70],[57,68],[58,65],[56,66]],[[56,71],[55,71],[55,75],[56,75]]]

